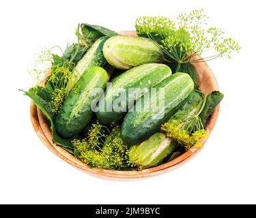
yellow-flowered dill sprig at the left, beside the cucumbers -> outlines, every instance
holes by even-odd
[[[79,42],[79,35],[77,35],[77,40]],[[59,48],[59,46],[54,46],[53,48],[56,47]],[[35,65],[29,73],[33,74],[36,86],[41,86],[42,81],[46,81],[46,91],[51,94],[51,101],[48,102],[48,105],[51,107],[52,112],[57,114],[70,91],[67,84],[68,81],[71,80],[74,70],[76,70],[76,55],[78,55],[79,52],[81,53],[80,55],[83,55],[84,48],[81,48],[78,43],[72,55],[70,55],[70,50],[68,50],[69,59],[67,59],[67,55],[65,56],[66,52],[63,52],[61,48],[59,49],[61,50],[62,57],[53,54],[53,48],[44,49],[39,53],[37,61],[35,61]],[[73,48],[74,46],[72,49]],[[50,74],[46,80],[43,80],[47,71],[50,72]]]

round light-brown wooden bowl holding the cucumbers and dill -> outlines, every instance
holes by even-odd
[[[119,32],[119,34],[122,35],[133,35],[136,36],[135,31],[122,31]],[[216,81],[216,78],[214,74],[212,73],[212,70],[205,62],[201,63],[193,63],[196,71],[197,71],[197,82],[199,84],[199,87],[201,91],[205,95],[208,95],[208,93],[211,93],[214,90],[218,90],[218,83]],[[208,119],[208,123],[205,127],[206,131],[208,131],[208,134],[211,133],[215,123],[216,119],[218,117],[218,110],[219,106],[216,107],[210,118]],[[197,147],[193,147],[186,151],[186,153],[183,153],[182,155],[176,157],[175,159],[164,163],[160,166],[156,166],[154,168],[149,168],[146,170],[130,170],[130,171],[119,171],[119,170],[104,170],[104,169],[98,169],[98,168],[89,168],[85,163],[79,161],[79,159],[76,159],[73,155],[68,153],[67,151],[63,150],[61,146],[58,146],[55,142],[52,140],[52,134],[50,125],[46,119],[46,117],[42,114],[42,112],[31,102],[31,108],[30,108],[30,114],[31,114],[31,122],[33,125],[33,128],[35,129],[36,134],[38,134],[38,137],[42,142],[50,149],[55,155],[63,159],[64,161],[70,163],[75,168],[78,168],[79,170],[82,170],[83,172],[86,172],[87,174],[91,174],[93,176],[97,176],[99,178],[106,178],[106,179],[139,179],[139,178],[146,178],[150,176],[156,176],[158,174],[162,174],[165,172],[169,172],[171,170],[174,170],[175,168],[178,168],[182,166],[184,163],[189,161],[191,158],[193,158],[201,149]],[[202,144],[205,144],[205,141],[207,139],[203,139],[201,142]]]

